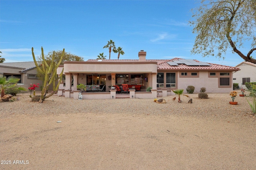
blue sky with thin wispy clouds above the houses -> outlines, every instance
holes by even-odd
[[[74,55],[109,59],[113,40],[120,59],[196,59],[236,66],[244,61],[228,49],[225,59],[191,54],[196,35],[188,21],[199,0],[0,0],[0,55],[5,63],[33,61],[35,56],[65,49]],[[117,59],[111,53],[111,59]]]

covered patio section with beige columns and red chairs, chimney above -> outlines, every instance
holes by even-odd
[[[146,61],[146,52],[138,53],[139,60],[88,60],[65,61],[57,74],[64,68],[65,79],[59,86],[58,96],[78,99],[77,85],[83,84],[90,88],[96,86],[99,90],[84,90],[83,99],[114,99],[118,89],[128,85],[129,98],[157,97],[157,62]],[[146,88],[152,87],[151,92]],[[166,90],[167,94],[167,90]]]

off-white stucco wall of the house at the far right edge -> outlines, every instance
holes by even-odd
[[[256,67],[248,64],[241,64],[238,66],[240,68],[239,71],[233,73],[234,83],[238,83],[239,88],[241,88],[242,78],[250,78],[250,82],[256,82]],[[243,85],[245,88],[245,85]]]

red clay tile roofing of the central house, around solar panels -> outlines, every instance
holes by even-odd
[[[156,61],[157,69],[159,70],[231,70],[238,71],[240,70],[237,67],[225,66],[220,64],[208,63],[210,65],[186,65],[186,64],[178,64],[178,65],[170,65],[168,62],[177,61],[180,58],[174,58],[169,60],[146,60],[146,61]],[[98,60],[87,60],[87,61],[98,61]],[[138,62],[139,60],[102,60],[101,62]],[[194,60],[195,62],[200,62],[198,60]]]

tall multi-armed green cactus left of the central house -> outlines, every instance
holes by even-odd
[[[50,66],[49,66],[47,64],[46,60],[44,59],[44,49],[42,47],[41,48],[42,60],[43,60],[42,61],[42,68],[40,66],[38,66],[38,63],[36,62],[36,58],[35,58],[33,50],[34,49],[32,47],[32,56],[33,56],[33,59],[34,59],[34,63],[36,64],[36,67],[38,68],[38,71],[44,76],[43,88],[42,88],[41,98],[40,98],[40,101],[39,101],[39,103],[42,103],[46,98],[49,98],[50,96],[52,96],[53,94],[55,94],[58,91],[58,88],[59,88],[59,85],[60,85],[60,80],[62,79],[62,74],[63,74],[64,68],[62,69],[62,72],[61,72],[59,77],[57,76],[57,68],[60,65],[61,61],[62,61],[65,49],[63,49],[63,51],[62,51],[62,56],[60,57],[60,61],[58,62],[58,64],[56,64],[54,62],[54,55],[55,55],[54,53],[55,52],[53,52],[52,61],[51,61]],[[55,85],[56,81],[58,81],[57,85]],[[46,96],[46,94],[48,92],[48,88],[51,84],[53,84],[53,91],[52,91],[52,93],[50,93]]]

